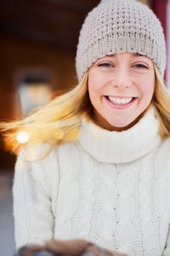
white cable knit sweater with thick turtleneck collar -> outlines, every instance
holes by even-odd
[[[170,139],[154,108],[133,128],[82,122],[77,143],[43,160],[20,154],[14,176],[17,247],[84,238],[129,256],[170,255]],[[37,147],[38,157],[48,145]]]

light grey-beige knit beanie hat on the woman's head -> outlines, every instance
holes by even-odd
[[[88,13],[77,45],[77,77],[105,55],[138,53],[156,63],[163,77],[166,44],[160,20],[135,0],[102,0]]]

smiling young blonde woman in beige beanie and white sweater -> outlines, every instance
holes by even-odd
[[[80,84],[5,126],[30,134],[14,175],[17,247],[82,238],[127,255],[170,255],[165,66],[161,24],[148,7],[103,0],[88,14]]]

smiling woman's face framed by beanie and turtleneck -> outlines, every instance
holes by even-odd
[[[150,105],[154,87],[155,70],[148,57],[126,52],[99,59],[88,71],[95,121],[109,131],[127,130]]]

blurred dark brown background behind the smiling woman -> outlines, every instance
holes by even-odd
[[[148,4],[161,20],[170,67],[170,0]],[[26,117],[77,84],[82,22],[99,0],[0,0],[0,120]],[[169,25],[168,25],[169,24]],[[170,84],[170,74],[165,79]],[[170,88],[169,88],[170,89]],[[22,139],[20,141],[23,142]],[[0,255],[14,253],[11,187],[16,154],[0,135]]]

